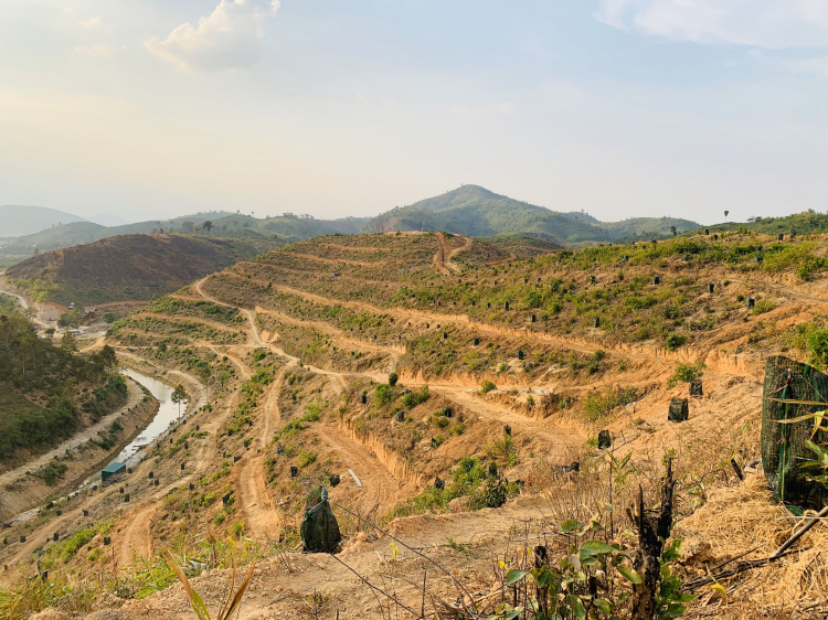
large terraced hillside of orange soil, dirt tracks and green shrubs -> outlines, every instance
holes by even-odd
[[[626,509],[639,493],[658,505],[668,461],[677,578],[767,558],[800,521],[772,502],[761,466],[740,481],[730,461],[760,453],[765,359],[828,363],[827,247],[725,233],[519,259],[457,235],[335,235],[201,279],[109,331],[124,362],[183,373],[192,389],[198,377],[210,405],[152,447],[129,505],[115,490],[62,504],[88,517],[61,522],[83,545],[40,549],[74,588],[55,605],[187,617],[158,555],[172,548],[208,605],[233,559],[257,563],[242,618],[475,617],[464,605],[488,617],[522,596],[506,581],[533,566],[527,549],[565,562],[569,528],[635,552],[626,533],[641,517]],[[669,423],[699,378],[689,419]],[[337,556],[295,553],[320,484],[346,538]],[[55,519],[45,511],[32,536]],[[821,609],[828,536],[793,548],[694,590],[686,616]],[[35,550],[12,544],[0,562],[30,577]],[[112,577],[84,580],[104,567]],[[586,570],[607,597],[635,590]]]

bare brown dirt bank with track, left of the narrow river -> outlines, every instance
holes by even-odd
[[[144,391],[132,381],[129,385],[129,402],[121,409],[107,416],[107,430],[114,421],[118,421],[123,430],[118,432],[118,442],[110,449],[105,450],[93,440],[98,439],[98,434],[84,434],[85,439],[75,437],[61,446],[60,455],[50,452],[41,459],[28,466],[23,466],[1,477],[2,493],[0,494],[0,521],[7,521],[42,504],[46,499],[62,495],[74,491],[86,478],[105,467],[117,456],[132,439],[138,437],[147,427],[152,417],[158,413],[158,400],[152,396],[145,395]],[[97,428],[93,427],[93,428]],[[88,437],[87,437],[88,435]],[[70,449],[70,443],[72,449]],[[54,467],[66,467],[65,472],[54,487],[38,472],[53,463]]]

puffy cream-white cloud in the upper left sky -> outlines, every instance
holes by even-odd
[[[147,50],[180,70],[226,71],[258,61],[264,22],[279,8],[279,0],[221,0],[215,10],[184,23],[163,41],[153,36]]]

